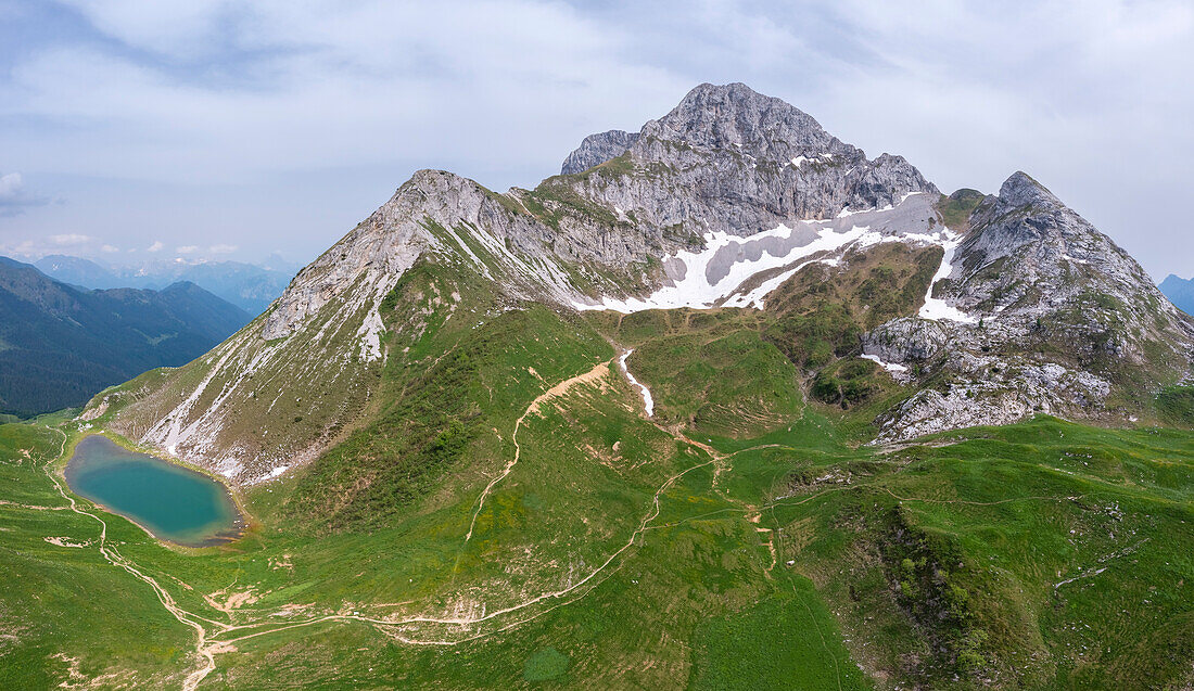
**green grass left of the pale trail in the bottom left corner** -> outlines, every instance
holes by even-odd
[[[0,426],[0,498],[63,507],[44,473],[61,436],[32,425]],[[113,537],[128,537],[128,522]],[[51,687],[80,674],[153,686],[187,664],[191,631],[171,618],[148,587],[112,568],[93,548],[47,537],[94,539],[98,524],[55,510],[0,505],[0,686]],[[141,532],[140,529],[135,529]],[[144,533],[141,532],[143,536]],[[76,679],[78,680],[78,679]]]

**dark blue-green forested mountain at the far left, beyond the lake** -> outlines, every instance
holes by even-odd
[[[146,370],[186,364],[250,319],[190,282],[87,290],[0,257],[0,413],[81,405]]]

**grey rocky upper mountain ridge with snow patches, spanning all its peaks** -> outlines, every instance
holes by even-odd
[[[1189,372],[1190,317],[1027,174],[998,195],[944,197],[901,156],[870,159],[780,99],[706,84],[639,132],[586,137],[534,190],[417,172],[253,323],[85,415],[258,482],[369,415],[389,353],[413,345],[398,321],[417,310],[387,300],[416,266],[468,272],[498,309],[771,310],[804,272],[832,283],[896,245],[935,252],[936,271],[838,353],[903,385],[874,421],[879,440],[1035,412],[1125,420]],[[263,434],[279,401],[301,414]]]

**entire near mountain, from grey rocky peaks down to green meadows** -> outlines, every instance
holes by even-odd
[[[0,425],[0,689],[1189,689],[1192,351],[1032,175],[703,84]]]

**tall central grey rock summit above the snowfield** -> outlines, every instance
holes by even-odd
[[[581,144],[570,161],[595,149]],[[753,235],[783,222],[894,206],[912,192],[937,193],[903,158],[868,160],[807,113],[741,84],[694,88],[645,124],[622,155],[627,167],[567,183],[633,216],[639,233],[665,246],[667,239],[677,246],[675,239],[698,242],[707,233]]]

